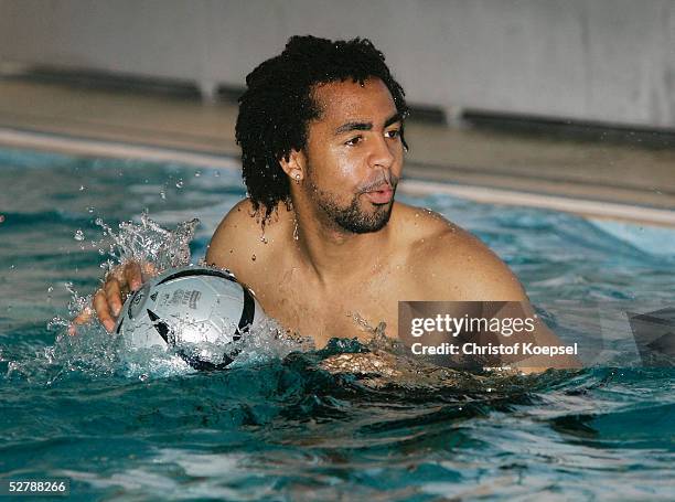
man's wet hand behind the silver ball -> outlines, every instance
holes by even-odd
[[[141,265],[138,261],[127,261],[115,267],[106,276],[103,287],[94,295],[94,309],[87,308],[81,312],[74,319],[68,330],[69,333],[75,334],[75,328],[88,322],[94,313],[96,313],[104,328],[111,332],[127,296],[139,289],[144,278],[156,274],[154,266],[147,263]]]

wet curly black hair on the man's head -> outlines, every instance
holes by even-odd
[[[403,87],[394,79],[385,57],[367,39],[330,41],[292,36],[278,56],[246,76],[236,125],[242,147],[243,177],[254,209],[267,221],[279,202],[290,201],[289,179],[279,161],[307,145],[308,124],[320,117],[312,100],[315,85],[351,78],[363,84],[377,77],[387,86],[398,114],[408,107]],[[401,140],[407,148],[405,139]]]

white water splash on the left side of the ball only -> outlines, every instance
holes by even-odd
[[[143,265],[142,270],[148,277],[190,264],[190,242],[199,220],[180,223],[174,231],[162,228],[148,214],[142,214],[139,222],[120,223],[117,231],[101,218],[97,218],[96,224],[104,231],[104,238],[97,246],[99,254],[107,258],[100,265],[106,274],[133,260]],[[84,239],[81,229],[75,239]],[[163,376],[191,371],[170,351],[137,354],[140,359],[126,360],[122,356],[129,354],[124,352],[124,344],[96,320],[92,309],[94,293],[81,295],[72,282],[66,282],[65,288],[71,293],[68,316],[56,317],[47,324],[49,330],[56,332],[54,345],[39,351],[34,357],[9,362],[8,378],[52,385],[68,374],[99,377],[150,373]],[[68,334],[73,319],[83,313],[88,314],[89,320],[76,327],[76,335]]]

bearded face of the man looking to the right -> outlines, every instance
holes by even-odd
[[[403,168],[394,99],[378,78],[323,84],[312,96],[321,116],[308,127],[308,196],[339,229],[377,232],[389,221]]]

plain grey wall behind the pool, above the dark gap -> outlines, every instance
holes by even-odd
[[[411,103],[675,129],[673,0],[0,0],[0,60],[238,85],[367,36]]]

